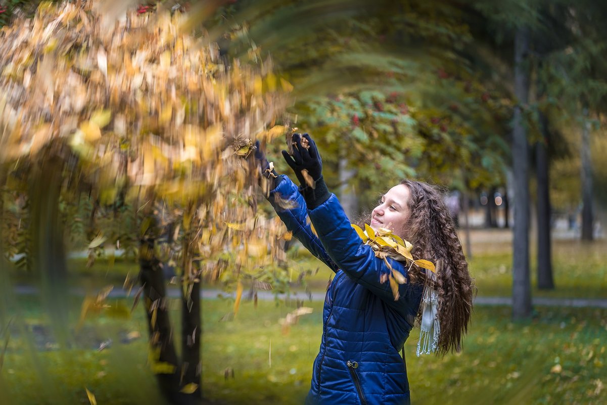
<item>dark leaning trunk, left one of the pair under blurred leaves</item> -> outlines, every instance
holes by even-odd
[[[157,220],[148,213],[143,221],[148,222],[148,226],[142,226],[146,230],[140,240],[139,281],[143,286],[144,309],[148,316],[150,362],[164,398],[171,404],[181,404],[179,362],[169,321],[166,287],[160,261],[154,254]]]

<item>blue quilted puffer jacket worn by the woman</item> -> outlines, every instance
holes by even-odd
[[[296,207],[282,208],[276,193]],[[308,211],[297,186],[282,175],[269,200],[293,236],[336,272],[325,296],[322,341],[306,403],[409,404],[399,351],[415,321],[422,286],[402,284],[394,300],[390,284],[380,282],[390,269],[362,243],[333,194]],[[388,261],[407,277],[401,262]]]

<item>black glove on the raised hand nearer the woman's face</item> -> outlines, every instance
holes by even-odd
[[[302,186],[316,188],[316,181],[322,177],[322,160],[316,148],[316,143],[308,134],[293,134],[293,155],[282,151],[282,156],[295,172]],[[302,142],[304,145],[302,145]],[[307,145],[306,145],[307,144]],[[304,172],[310,177],[307,177]]]

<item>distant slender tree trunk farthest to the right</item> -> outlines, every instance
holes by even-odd
[[[590,123],[588,108],[583,109],[582,126],[582,240],[592,240],[592,162],[590,159]]]

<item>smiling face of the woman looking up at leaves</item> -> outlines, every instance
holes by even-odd
[[[371,228],[387,228],[402,237],[409,219],[409,187],[399,184],[381,197],[381,203],[371,212]]]

